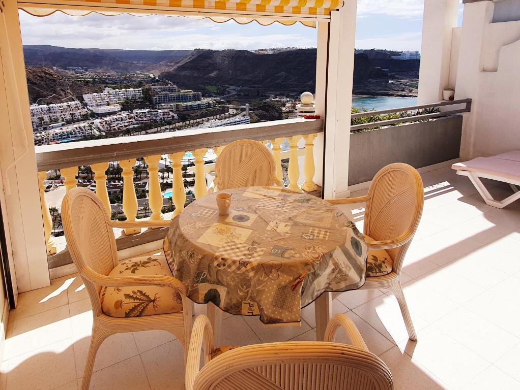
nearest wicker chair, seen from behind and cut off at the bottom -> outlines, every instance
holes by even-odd
[[[352,345],[335,343],[342,327]],[[204,346],[204,367],[200,368]],[[209,319],[197,317],[186,365],[187,390],[391,390],[392,374],[370,353],[343,314],[331,319],[323,342],[281,342],[243,347],[213,345]]]

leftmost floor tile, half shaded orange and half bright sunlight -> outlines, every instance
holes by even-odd
[[[71,337],[68,305],[19,318],[8,326],[4,359],[23,355]]]

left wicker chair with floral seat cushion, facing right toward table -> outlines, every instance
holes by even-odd
[[[112,231],[113,227],[168,226],[170,221],[111,221],[98,197],[80,187],[63,198],[61,218],[72,260],[88,291],[94,315],[82,390],[88,389],[99,346],[115,333],[166,330],[180,341],[186,359],[192,324],[186,287],[172,277],[163,256],[128,259],[118,264]]]

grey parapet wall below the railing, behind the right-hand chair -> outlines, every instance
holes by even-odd
[[[385,165],[415,168],[459,157],[462,116],[412,123],[350,135],[348,185],[372,180]]]

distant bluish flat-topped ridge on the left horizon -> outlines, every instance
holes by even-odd
[[[50,45],[24,45],[23,55],[27,66],[68,68],[81,66],[89,69],[114,72],[149,71],[159,64],[173,66],[191,50],[118,50],[118,49],[71,49]],[[159,66],[160,68],[160,66]]]

